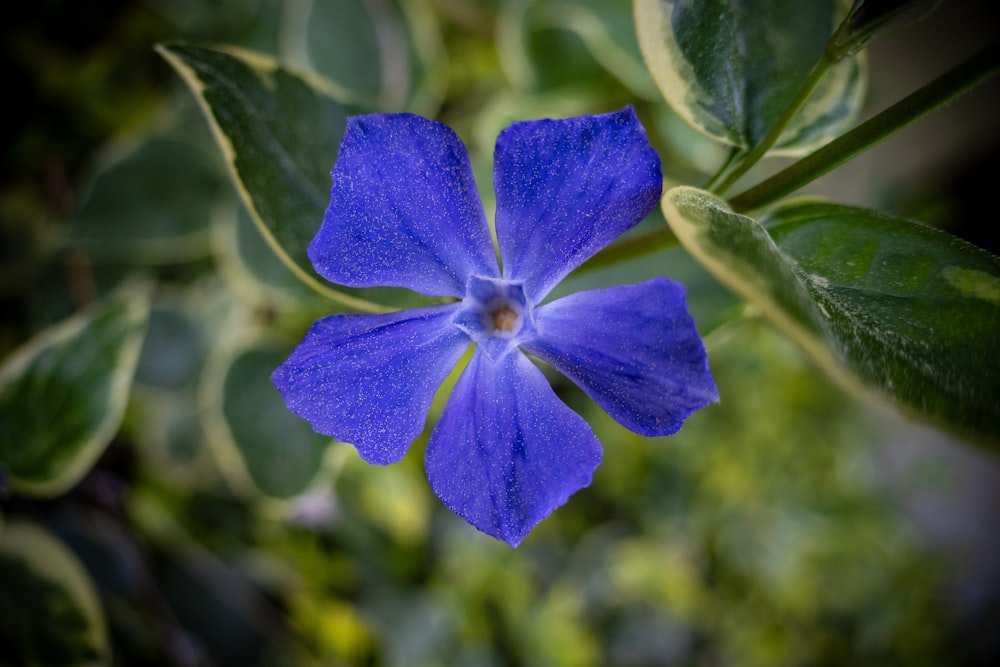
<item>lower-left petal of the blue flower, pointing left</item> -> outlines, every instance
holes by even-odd
[[[457,304],[387,315],[332,315],[271,376],[313,429],[350,442],[369,463],[394,463],[420,435],[434,392],[468,348]]]

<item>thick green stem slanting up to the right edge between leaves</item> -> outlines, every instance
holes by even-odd
[[[990,44],[850,132],[731,198],[729,204],[733,210],[741,212],[766,206],[839,167],[998,72],[1000,72],[1000,41]]]

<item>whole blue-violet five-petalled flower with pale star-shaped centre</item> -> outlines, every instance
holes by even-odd
[[[351,287],[453,297],[316,322],[273,375],[288,407],[366,461],[400,460],[470,344],[430,435],[427,477],[478,529],[517,546],[590,484],[601,446],[525,353],[625,427],[669,435],[718,400],[684,290],[668,278],[545,296],[652,211],[660,160],[631,108],[514,123],[494,154],[502,269],[465,147],[412,114],[351,118],[309,257]]]

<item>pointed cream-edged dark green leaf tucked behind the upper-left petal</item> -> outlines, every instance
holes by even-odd
[[[320,79],[238,49],[157,47],[198,98],[244,203],[292,272],[348,308],[386,310],[319,281],[306,253],[323,221],[347,117]]]

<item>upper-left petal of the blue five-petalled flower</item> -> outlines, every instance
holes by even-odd
[[[470,274],[499,276],[468,154],[448,126],[413,114],[352,117],[331,176],[309,244],[327,280],[461,297]]]

